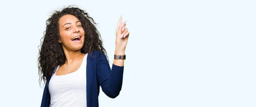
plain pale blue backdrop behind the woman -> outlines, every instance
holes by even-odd
[[[130,31],[123,87],[100,107],[256,107],[255,0],[0,0],[0,107],[39,107],[38,46],[53,10],[99,23],[110,64]]]

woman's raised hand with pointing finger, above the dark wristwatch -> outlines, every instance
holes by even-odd
[[[129,32],[126,28],[126,21],[122,22],[122,16],[119,18],[116,26],[116,50],[115,55],[124,55],[128,42]]]

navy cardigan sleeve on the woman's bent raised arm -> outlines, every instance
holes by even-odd
[[[101,51],[96,66],[97,79],[102,87],[102,91],[108,97],[116,98],[122,88],[124,67],[113,64],[111,69],[108,59]]]

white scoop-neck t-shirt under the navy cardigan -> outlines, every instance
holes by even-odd
[[[86,62],[87,54],[79,69],[66,75],[55,75],[57,67],[49,81],[50,107],[87,107]]]

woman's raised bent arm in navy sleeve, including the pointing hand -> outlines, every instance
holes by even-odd
[[[125,55],[125,48],[129,37],[126,21],[121,22],[122,16],[119,18],[116,26],[115,55]],[[102,87],[102,91],[108,95],[108,97],[116,98],[122,88],[124,59],[114,59],[111,69],[106,56],[100,52],[100,57],[97,62],[97,79]]]

